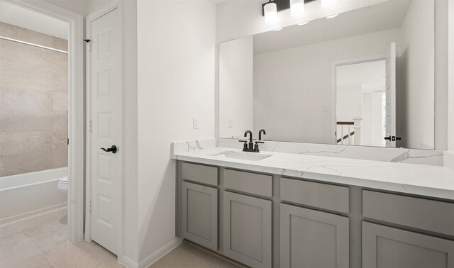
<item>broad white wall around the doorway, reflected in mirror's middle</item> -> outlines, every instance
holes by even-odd
[[[331,143],[331,62],[385,55],[398,40],[398,29],[386,30],[255,55],[254,130],[264,127],[270,139]]]

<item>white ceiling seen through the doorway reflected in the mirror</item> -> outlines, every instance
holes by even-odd
[[[386,62],[362,62],[336,67],[336,86],[362,85],[362,93],[384,91]]]

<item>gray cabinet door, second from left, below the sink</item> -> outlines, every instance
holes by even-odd
[[[250,267],[271,267],[271,201],[228,191],[223,195],[224,255]]]

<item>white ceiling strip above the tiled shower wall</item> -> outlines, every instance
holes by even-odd
[[[5,1],[0,1],[0,21],[67,40],[67,23]]]

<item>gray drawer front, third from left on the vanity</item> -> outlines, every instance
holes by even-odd
[[[281,178],[281,199],[348,213],[348,187]]]

